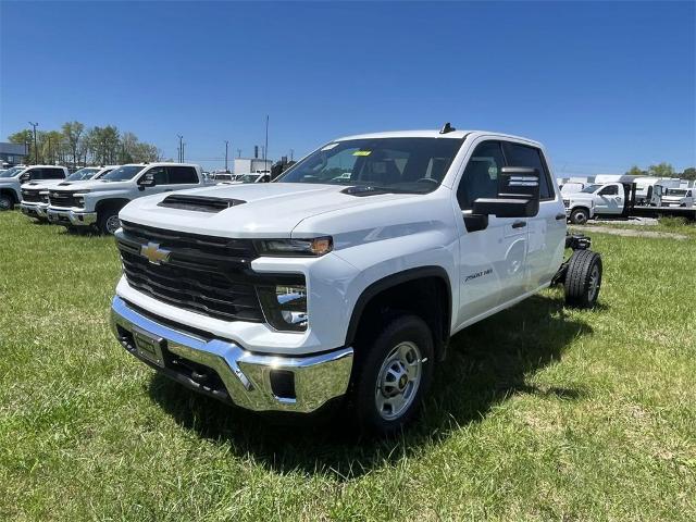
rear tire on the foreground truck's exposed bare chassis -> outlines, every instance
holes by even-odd
[[[573,308],[594,308],[601,287],[601,257],[592,250],[576,250],[568,261],[566,303]]]

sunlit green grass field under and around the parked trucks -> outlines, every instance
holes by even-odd
[[[199,397],[108,328],[113,239],[0,213],[0,520],[696,520],[696,234],[595,234],[559,290],[452,340],[397,440]]]

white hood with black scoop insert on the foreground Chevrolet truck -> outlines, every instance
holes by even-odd
[[[302,221],[327,212],[356,207],[383,204],[399,199],[422,198],[413,194],[344,194],[345,185],[314,185],[303,183],[263,183],[216,185],[176,191],[176,195],[244,201],[219,212],[200,212],[160,207],[158,203],[172,192],[139,198],[123,208],[120,217],[142,225],[173,228],[194,234],[222,237],[290,237]],[[318,235],[332,231],[315,231]]]

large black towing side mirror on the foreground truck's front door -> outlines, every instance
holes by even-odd
[[[498,177],[498,197],[478,198],[472,214],[497,217],[533,217],[539,211],[539,171],[504,166]]]

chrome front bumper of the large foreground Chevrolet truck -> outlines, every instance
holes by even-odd
[[[161,373],[249,410],[309,413],[348,389],[352,348],[306,357],[252,353],[231,340],[174,330],[117,296],[111,327],[128,352]],[[145,349],[138,344],[144,336]],[[150,351],[149,343],[159,349]]]

